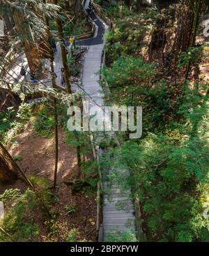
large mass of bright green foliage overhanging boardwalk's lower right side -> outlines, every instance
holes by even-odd
[[[166,135],[149,134],[139,144],[128,141],[113,150],[114,162],[106,162],[106,168],[130,169],[126,182],[143,206],[149,241],[154,234],[155,241],[209,239],[209,220],[201,202],[209,193],[208,97],[197,94],[188,90],[179,108],[186,125],[176,124],[178,128],[167,129]],[[123,185],[124,180],[119,178],[118,183]]]

